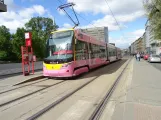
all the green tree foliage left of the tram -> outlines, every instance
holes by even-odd
[[[31,18],[25,28],[17,28],[15,34],[0,26],[0,60],[20,61],[21,46],[25,45],[25,32],[32,32],[32,46],[38,59],[44,58],[45,43],[51,31],[58,28],[53,20],[45,17]]]

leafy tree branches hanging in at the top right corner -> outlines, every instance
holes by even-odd
[[[161,1],[145,0],[144,8],[150,21],[154,39],[161,40]]]

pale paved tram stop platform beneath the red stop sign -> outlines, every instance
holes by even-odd
[[[22,75],[5,77],[0,79],[0,90],[25,83],[27,81],[34,81],[40,78],[43,78],[42,71],[35,72],[34,74],[31,73],[27,76],[24,76],[22,74]]]

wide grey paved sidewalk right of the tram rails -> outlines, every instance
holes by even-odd
[[[161,120],[161,71],[132,59],[100,120]]]

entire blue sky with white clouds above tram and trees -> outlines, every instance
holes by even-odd
[[[55,20],[59,29],[71,28],[73,23],[58,9],[58,6],[73,2],[80,28],[106,26],[109,29],[109,42],[115,43],[120,48],[129,47],[141,37],[145,32],[147,21],[142,0],[4,0],[4,2],[8,11],[0,13],[0,26],[5,25],[11,33],[15,33],[18,27],[24,27],[24,24],[35,16]],[[74,18],[73,11],[70,8],[66,10]]]

